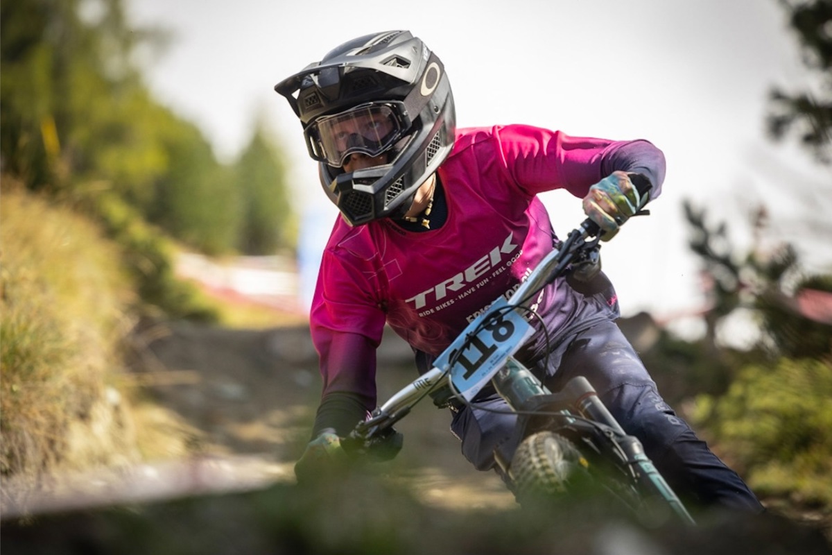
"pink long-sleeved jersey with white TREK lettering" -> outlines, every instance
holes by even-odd
[[[640,149],[648,160],[633,155]],[[310,315],[324,394],[361,394],[372,409],[374,347],[385,323],[414,349],[441,353],[552,250],[552,225],[537,193],[563,188],[583,197],[614,170],[646,174],[655,197],[664,161],[646,141],[579,138],[532,126],[459,129],[438,170],[448,206],[441,227],[413,232],[386,219],[350,227],[339,218]],[[586,313],[587,302],[561,283],[546,290],[538,310],[557,334]],[[349,339],[352,334],[366,340]]]

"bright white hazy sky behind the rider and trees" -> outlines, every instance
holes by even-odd
[[[647,310],[696,333],[696,320],[676,318],[704,302],[682,201],[706,208],[713,223],[727,221],[738,245],[749,244],[748,215],[765,202],[775,233],[788,240],[805,210],[790,188],[820,190],[830,178],[797,146],[765,138],[770,88],[810,83],[775,0],[128,0],[128,7],[135,25],[171,31],[166,51],[143,62],[148,83],[201,127],[220,160],[234,159],[255,122],[288,154],[307,284],[337,211],[320,189],[300,123],[273,87],[370,32],[409,29],[437,53],[458,126],[525,123],[646,139],[664,151],[664,192],[651,216],[632,220],[602,249],[623,315]],[[579,199],[563,191],[542,198],[560,235],[582,221]],[[811,247],[809,265],[830,269],[828,239]]]

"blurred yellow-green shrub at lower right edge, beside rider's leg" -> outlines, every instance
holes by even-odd
[[[697,399],[694,419],[763,495],[832,507],[832,364],[746,366],[728,392]]]

